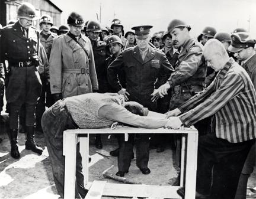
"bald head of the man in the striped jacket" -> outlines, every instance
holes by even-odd
[[[207,65],[215,71],[219,71],[229,60],[223,44],[216,39],[207,41],[204,45],[203,56],[206,58]]]

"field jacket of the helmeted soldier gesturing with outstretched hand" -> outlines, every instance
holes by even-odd
[[[175,72],[168,81],[171,87],[181,85],[183,89],[202,90],[206,77],[206,64],[203,58],[203,45],[193,38],[181,47]]]

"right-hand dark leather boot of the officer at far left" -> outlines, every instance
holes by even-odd
[[[43,153],[43,149],[36,145],[34,141],[34,126],[26,126],[27,141],[25,142],[25,149],[31,150],[39,155]]]

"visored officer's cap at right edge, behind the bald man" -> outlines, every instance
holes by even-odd
[[[254,47],[256,40],[251,38],[248,32],[236,32],[231,35],[231,45],[228,50],[236,53],[241,51],[243,48]]]

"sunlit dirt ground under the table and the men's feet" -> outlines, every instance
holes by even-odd
[[[7,118],[7,115],[4,115],[4,117]],[[18,144],[21,158],[17,160],[9,154],[10,145],[6,132],[7,127],[1,124],[0,138],[3,141],[0,143],[0,198],[59,198],[53,181],[52,166],[43,135],[37,132],[35,138],[37,144],[44,149],[43,154],[39,156],[25,150],[25,135],[20,133],[18,135]],[[92,157],[92,161],[89,164],[89,181],[105,180],[115,182],[105,179],[102,173],[105,169],[114,165],[109,172],[116,174],[118,171],[117,158],[103,156],[95,152],[97,149],[92,144],[93,140],[94,138],[91,136],[89,154]],[[114,137],[107,139],[107,135],[103,136],[103,149],[105,151],[110,152],[116,146],[117,143]],[[168,185],[169,178],[177,175],[173,156],[174,152],[170,148],[167,148],[161,154],[157,153],[156,149],[151,149],[149,161],[151,174],[143,175],[136,167],[134,159],[129,173],[125,177],[142,182],[143,184]],[[256,174],[254,172],[249,178],[248,187],[256,187],[255,179]]]

